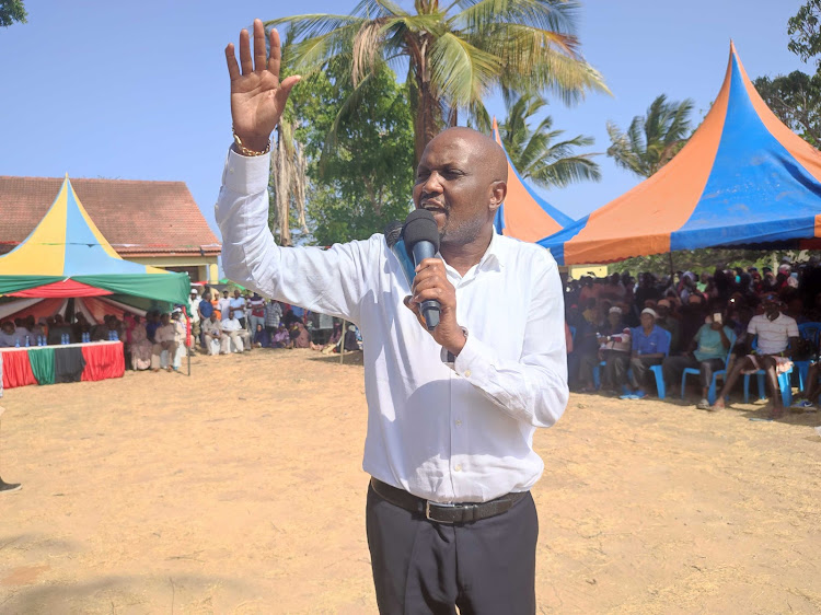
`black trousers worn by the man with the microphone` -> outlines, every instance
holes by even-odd
[[[368,487],[368,547],[381,615],[533,615],[539,519],[530,494],[474,523],[428,521]]]

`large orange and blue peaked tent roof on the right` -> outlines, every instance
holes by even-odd
[[[821,152],[773,114],[736,47],[721,90],[658,173],[537,243],[559,264],[698,247],[797,246],[821,237]]]

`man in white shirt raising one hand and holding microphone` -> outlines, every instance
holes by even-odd
[[[544,464],[531,442],[567,404],[564,306],[550,252],[494,232],[505,152],[469,128],[427,144],[413,200],[433,216],[441,258],[423,260],[413,283],[382,234],[326,251],[279,247],[267,152],[299,77],[279,82],[276,31],[267,66],[265,48],[256,20],[253,60],[245,31],[240,63],[226,49],[235,144],[216,207],[222,263],[243,286],[362,330],[366,525],[380,612],[532,614],[530,488]],[[441,305],[431,332],[426,300]]]

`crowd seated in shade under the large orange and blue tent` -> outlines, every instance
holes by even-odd
[[[816,406],[821,324],[809,323],[821,323],[817,258],[800,265],[785,258],[761,271],[718,267],[674,277],[641,272],[637,280],[627,271],[585,276],[565,281],[565,306],[571,390],[622,399],[640,399],[662,386],[678,393],[689,369],[699,375],[697,406],[718,410],[741,375],[763,372],[773,418],[785,411],[783,374],[790,385],[807,383],[795,407]],[[809,367],[803,379],[797,362]],[[722,372],[721,386],[710,399],[716,372]]]

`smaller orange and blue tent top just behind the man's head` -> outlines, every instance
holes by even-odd
[[[493,137],[504,150],[496,118]],[[507,150],[505,156],[508,159],[508,194],[496,210],[494,225],[497,233],[533,243],[574,222],[573,218],[553,207],[524,183]]]

